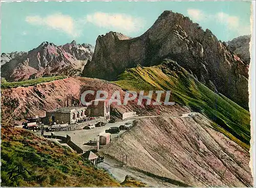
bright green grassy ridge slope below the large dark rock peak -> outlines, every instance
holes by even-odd
[[[172,60],[164,60],[158,66],[126,69],[113,83],[133,91],[170,90],[175,102],[206,115],[217,130],[249,150],[249,112],[208,89]]]

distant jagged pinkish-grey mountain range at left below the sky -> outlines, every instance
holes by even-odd
[[[80,75],[92,55],[90,44],[76,44],[72,41],[56,46],[42,42],[28,52],[2,53],[1,76],[13,82],[41,76]]]

